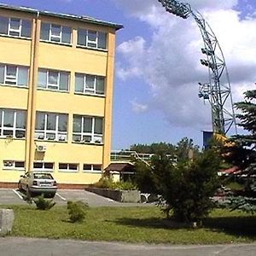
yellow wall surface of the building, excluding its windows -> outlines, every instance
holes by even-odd
[[[35,15],[15,11],[2,11],[0,15],[35,19]],[[73,27],[73,45],[39,42],[40,20]],[[57,183],[88,184],[96,182],[101,173],[83,172],[83,164],[101,164],[107,167],[110,161],[113,65],[115,29],[108,26],[85,24],[74,20],[64,20],[39,16],[38,25],[33,20],[32,39],[0,36],[0,63],[30,66],[30,87],[14,88],[0,84],[0,108],[26,109],[29,126],[25,139],[0,138],[0,182],[17,182],[21,171],[3,171],[3,160],[26,160],[26,168],[31,169],[33,161],[54,162],[53,175]],[[108,50],[76,48],[77,28],[84,27],[108,32]],[[4,50],[3,50],[4,49]],[[37,89],[38,68],[48,68],[70,72],[69,92]],[[74,93],[75,73],[90,73],[106,76],[105,96],[84,96]],[[36,111],[67,113],[68,141],[46,142],[33,138]],[[99,116],[104,119],[104,144],[72,143],[73,114]],[[45,145],[46,152],[38,153],[36,145]],[[30,162],[30,164],[28,163]],[[58,163],[77,163],[78,172],[59,172]],[[30,166],[30,167],[29,167]],[[27,170],[32,171],[32,170]]]

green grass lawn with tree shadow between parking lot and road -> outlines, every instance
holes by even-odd
[[[166,226],[157,207],[90,208],[82,223],[68,222],[67,207],[40,211],[13,206],[11,236],[71,238],[90,241],[212,244],[256,240],[256,217],[241,212],[215,210],[204,228],[189,230]]]

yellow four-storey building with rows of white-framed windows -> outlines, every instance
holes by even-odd
[[[121,25],[0,4],[0,185],[52,172],[95,183],[111,149]]]

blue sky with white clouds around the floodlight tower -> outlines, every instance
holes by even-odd
[[[203,40],[192,17],[165,11],[158,0],[0,0],[124,25],[117,32],[112,149],[135,143],[202,146],[212,130],[211,108],[198,97],[207,82]],[[234,102],[256,82],[256,1],[187,0],[207,20],[224,53]],[[239,130],[239,132],[242,132]],[[230,134],[231,135],[231,134]]]

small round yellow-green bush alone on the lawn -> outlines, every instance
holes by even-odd
[[[71,222],[82,222],[88,211],[88,204],[83,201],[67,201],[67,210]]]

